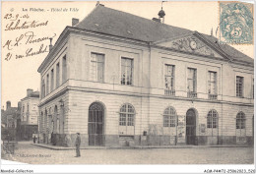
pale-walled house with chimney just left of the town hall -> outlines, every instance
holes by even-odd
[[[38,131],[38,104],[39,91],[33,91],[31,88],[27,89],[27,96],[21,100],[21,133],[22,140],[32,140],[32,134]]]

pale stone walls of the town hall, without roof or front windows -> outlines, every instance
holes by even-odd
[[[145,44],[94,31],[64,29],[38,69],[40,142],[74,146],[79,132],[82,146],[253,144],[253,64],[231,61],[196,33],[191,37],[200,39],[204,51],[169,49],[174,44],[171,40]],[[92,53],[103,55],[100,82],[93,77]],[[131,86],[121,85],[123,57],[133,61]],[[164,84],[165,65],[175,68],[174,90],[170,92]],[[187,89],[188,68],[196,70],[193,96]],[[209,72],[217,75],[214,98],[208,91]],[[236,96],[236,77],[243,78],[242,97]],[[96,113],[100,112],[102,119],[96,123],[99,133],[94,135],[89,133],[93,103],[101,107]],[[131,106],[133,112],[133,124],[126,127],[120,121],[124,105]],[[166,108],[175,113],[172,126],[164,126]],[[212,120],[208,126],[208,114],[213,110],[217,123]],[[188,111],[194,112],[191,129],[186,125]],[[244,125],[237,127],[240,113],[245,116]]]

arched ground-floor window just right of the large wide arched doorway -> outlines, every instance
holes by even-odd
[[[120,108],[120,126],[134,126],[135,110],[131,104],[124,104]]]

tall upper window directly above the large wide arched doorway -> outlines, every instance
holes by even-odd
[[[104,81],[104,55],[98,53],[91,54],[91,79],[95,82]]]

